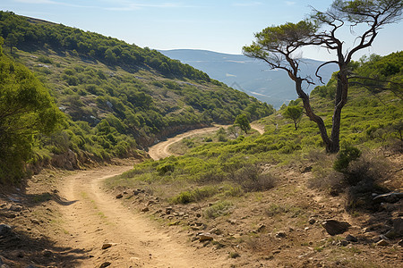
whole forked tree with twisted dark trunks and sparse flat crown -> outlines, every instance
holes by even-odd
[[[347,103],[348,68],[352,56],[357,51],[372,46],[382,26],[399,21],[402,6],[401,0],[335,0],[327,12],[313,9],[314,13],[311,16],[313,22],[300,21],[296,24],[288,22],[263,29],[262,32],[255,34],[256,41],[252,46],[244,46],[244,54],[265,61],[272,69],[287,71],[290,79],[296,84],[297,95],[303,100],[306,115],[318,125],[326,151],[337,153],[341,110]],[[363,34],[356,38],[356,46],[347,50],[344,49],[345,42],[336,36],[338,30],[345,24],[349,24],[351,29],[363,25],[367,27]],[[323,29],[318,32],[320,26]],[[310,98],[302,87],[303,82],[313,84],[309,77],[301,77],[299,73],[300,60],[295,54],[303,46],[324,46],[337,53],[337,60],[323,63],[316,71],[318,75],[318,71],[329,63],[339,65],[330,136],[322,118],[313,113]]]

